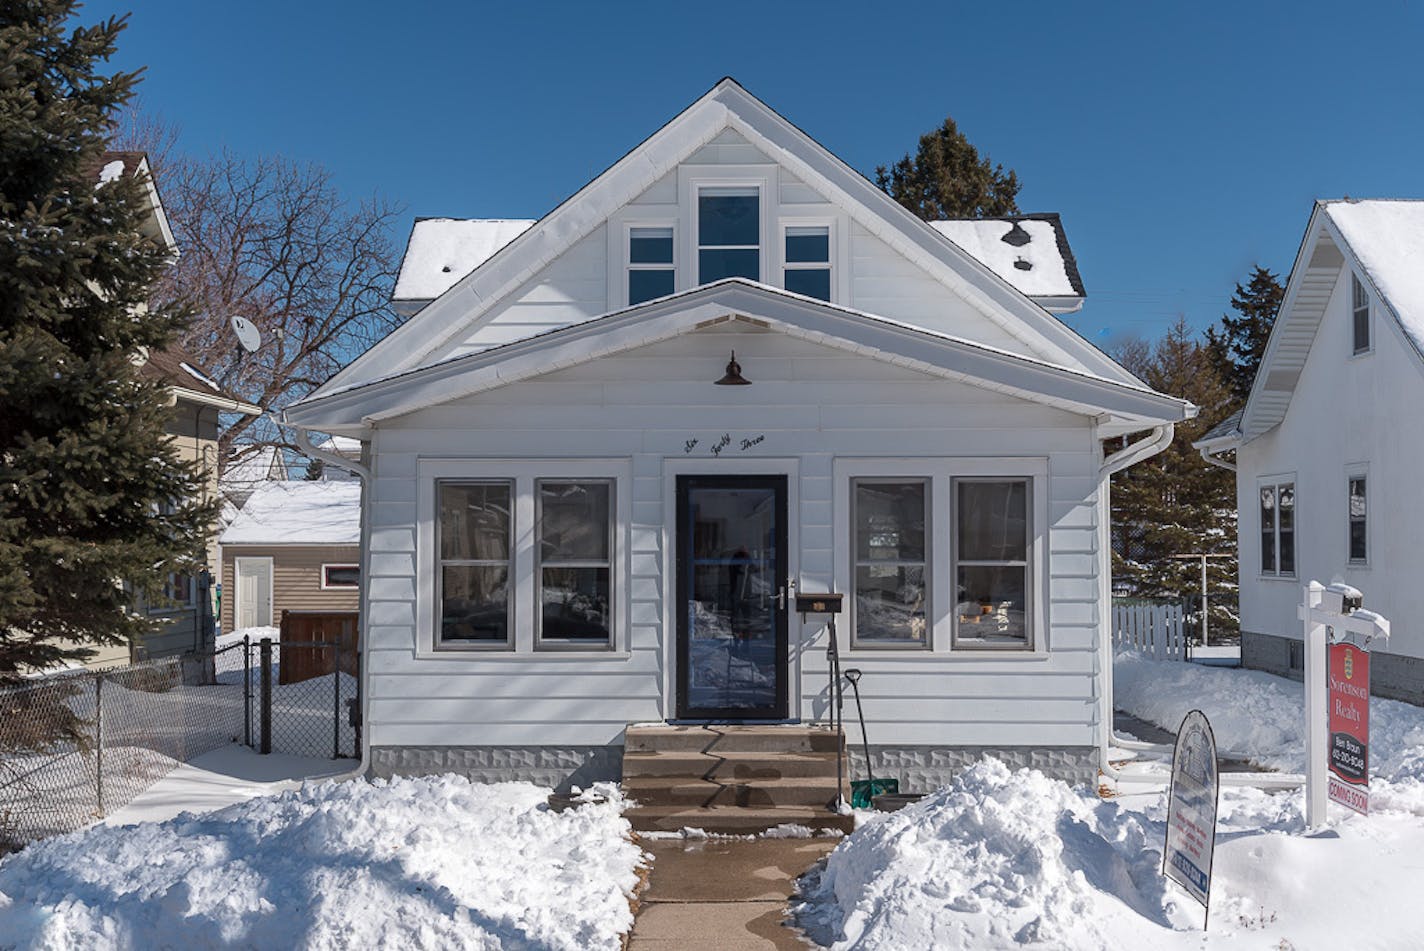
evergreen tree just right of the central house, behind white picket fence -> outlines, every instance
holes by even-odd
[[[1190,400],[1200,413],[1176,424],[1166,450],[1112,477],[1114,585],[1143,598],[1185,598],[1195,606],[1200,561],[1175,555],[1229,555],[1208,561],[1210,629],[1236,632],[1236,481],[1192,448],[1230,404],[1230,389],[1210,347],[1180,317],[1128,369],[1152,389]]]

